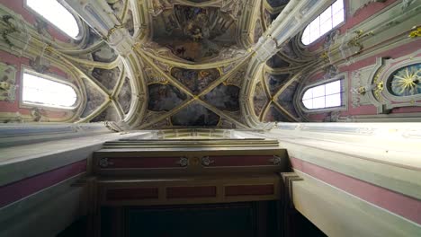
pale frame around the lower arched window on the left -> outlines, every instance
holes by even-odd
[[[76,102],[73,106],[65,107],[65,106],[53,106],[53,105],[45,105],[40,103],[31,103],[23,101],[23,75],[24,74],[30,74],[39,76],[42,79],[46,79],[49,81],[53,81],[56,83],[62,83],[70,86],[75,92],[76,92]],[[20,86],[19,86],[19,92],[20,92],[20,98],[19,98],[19,107],[24,109],[32,109],[32,108],[43,108],[46,110],[61,110],[61,111],[72,111],[77,110],[77,108],[80,106],[82,102],[81,93],[77,89],[76,85],[73,83],[69,83],[66,78],[63,78],[59,75],[47,75],[47,74],[40,74],[36,72],[35,70],[31,69],[28,66],[22,66],[21,67],[21,74],[20,74]]]

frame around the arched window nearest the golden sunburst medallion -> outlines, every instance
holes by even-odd
[[[317,86],[322,85],[322,84],[333,83],[335,81],[341,81],[341,87],[343,88],[343,92],[341,92],[341,93],[344,93],[344,96],[341,97],[342,105],[335,106],[335,107],[319,108],[319,109],[308,109],[304,105],[304,103],[302,102],[302,98],[303,98],[305,92],[307,92],[309,89],[311,89],[313,87],[317,87]],[[320,112],[329,112],[329,111],[348,110],[348,78],[347,78],[347,75],[346,74],[339,74],[339,75],[336,75],[332,78],[328,78],[326,80],[321,80],[317,83],[308,84],[308,85],[304,86],[303,88],[301,88],[299,96],[297,98],[298,98],[298,104],[300,105],[300,109],[303,110],[306,113],[320,113]]]

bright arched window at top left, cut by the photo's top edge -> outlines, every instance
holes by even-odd
[[[57,0],[26,0],[26,5],[71,38],[76,39],[79,35],[75,16]]]

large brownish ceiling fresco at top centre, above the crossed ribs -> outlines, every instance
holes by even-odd
[[[236,46],[236,19],[218,7],[168,5],[153,22],[152,40],[182,60],[201,63],[246,52]]]

